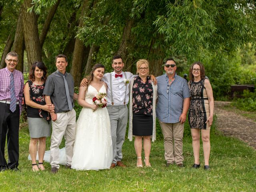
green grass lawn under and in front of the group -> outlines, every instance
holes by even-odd
[[[133,142],[127,139],[123,146],[123,162],[127,168],[112,170],[76,171],[60,167],[57,174],[46,171],[32,172],[28,160],[29,132],[20,130],[20,172],[0,172],[0,191],[218,191],[252,192],[256,190],[256,151],[235,138],[225,137],[211,130],[210,171],[205,171],[201,151],[201,167],[192,169],[194,163],[192,141],[188,122],[184,131],[184,168],[165,167],[163,140],[152,144],[151,168],[136,168]],[[159,134],[159,132],[158,132]],[[50,139],[47,139],[47,150]],[[64,146],[64,142],[62,142]],[[202,148],[202,145],[201,145]],[[142,156],[144,157],[144,156]]]

